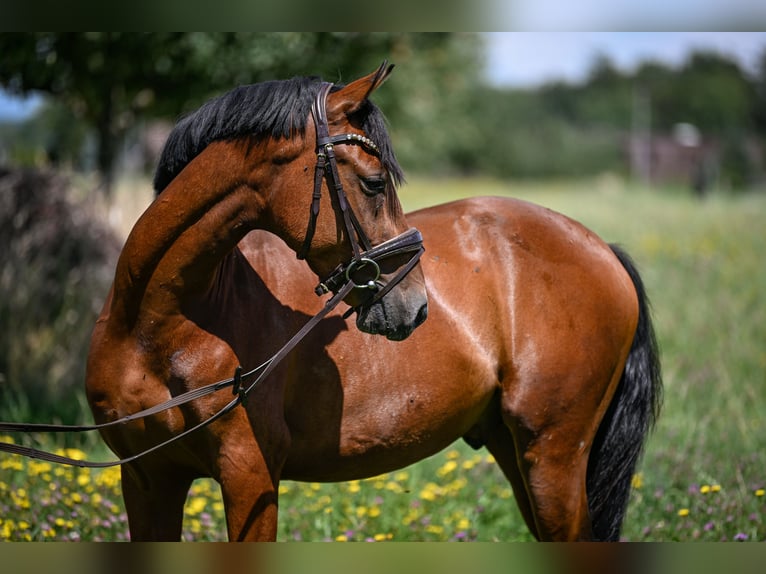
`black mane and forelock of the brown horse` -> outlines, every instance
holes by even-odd
[[[301,137],[321,80],[293,78],[239,86],[203,104],[176,124],[162,150],[154,191],[162,192],[186,165],[217,140]],[[333,91],[342,86],[335,85]],[[395,185],[404,179],[396,161],[383,114],[370,102],[357,112],[362,129],[381,151],[383,166]]]

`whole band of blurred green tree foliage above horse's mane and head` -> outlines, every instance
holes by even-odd
[[[413,131],[431,123],[435,134],[443,117],[465,111],[462,94],[478,78],[477,47],[475,36],[452,34],[5,33],[0,84],[11,93],[49,94],[92,126],[108,190],[119,142],[140,117],[176,119],[212,95],[266,79],[320,75],[343,82],[386,58],[406,79],[381,92],[383,109]],[[431,157],[458,157],[451,148],[470,145],[449,129],[440,133]],[[410,144],[404,138],[419,161]]]

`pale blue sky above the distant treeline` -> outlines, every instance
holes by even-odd
[[[766,50],[766,32],[493,32],[485,36],[487,79],[513,87],[554,79],[581,80],[599,54],[630,70],[648,58],[679,65],[694,50],[715,49],[755,71],[759,55]],[[0,120],[29,115],[38,102],[11,98],[0,90]]]

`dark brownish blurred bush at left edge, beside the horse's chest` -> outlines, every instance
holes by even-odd
[[[0,417],[82,422],[90,333],[119,241],[53,172],[0,168]]]

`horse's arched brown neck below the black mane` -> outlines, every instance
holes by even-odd
[[[172,317],[209,286],[217,266],[256,223],[252,190],[232,144],[211,144],[141,216],[117,263],[111,306],[131,329],[142,314]]]

